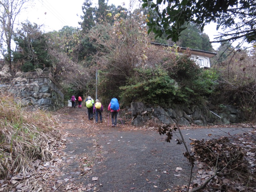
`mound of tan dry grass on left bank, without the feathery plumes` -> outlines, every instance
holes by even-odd
[[[17,98],[15,98],[17,100]],[[43,111],[27,112],[13,95],[0,92],[0,178],[36,172],[33,162],[53,158],[53,143],[59,137],[55,122]]]

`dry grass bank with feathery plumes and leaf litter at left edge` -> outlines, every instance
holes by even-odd
[[[0,80],[10,77],[8,71],[8,66],[0,70]],[[45,178],[57,155],[60,133],[50,113],[27,111],[19,94],[9,93],[16,84],[20,89],[31,86],[20,75],[17,73],[10,86],[0,91],[0,191],[49,191]],[[39,167],[44,164],[48,164],[47,169],[41,171]]]

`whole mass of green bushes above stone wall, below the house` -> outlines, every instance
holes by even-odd
[[[124,105],[132,101],[162,106],[202,104],[214,91],[218,79],[216,72],[199,68],[187,55],[177,57],[165,68],[135,68],[134,74],[120,87]]]

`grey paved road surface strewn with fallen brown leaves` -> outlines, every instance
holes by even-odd
[[[83,109],[70,109],[66,119],[86,111]],[[107,123],[94,124],[92,121],[83,122],[84,128],[76,128],[81,123],[77,117],[73,122],[74,129],[65,129],[72,136],[67,138],[67,159],[76,159],[62,169],[59,179],[73,178],[84,186],[93,186],[90,191],[107,192],[150,192],[169,191],[174,186],[188,185],[190,177],[190,164],[183,156],[185,147],[177,145],[175,139],[180,138],[179,133],[173,137],[171,143],[165,142],[166,136],[160,135],[156,130],[125,129],[125,125],[108,127]],[[86,118],[85,118],[86,119]],[[97,127],[98,126],[98,127]],[[100,126],[100,129],[99,129]],[[97,130],[96,133],[93,130]],[[88,131],[90,130],[90,131]],[[219,138],[228,134],[249,132],[251,128],[200,128],[181,130],[186,145],[190,140]],[[211,134],[211,136],[208,136]],[[79,139],[77,140],[77,138]],[[97,156],[101,158],[96,158]],[[93,166],[86,175],[85,167],[79,165],[79,159],[90,156]],[[182,168],[177,171],[176,169]],[[195,171],[195,170],[194,170]],[[82,176],[81,176],[82,175]],[[93,178],[97,180],[93,181]]]

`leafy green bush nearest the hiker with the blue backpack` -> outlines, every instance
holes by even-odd
[[[168,103],[175,99],[179,87],[163,69],[134,69],[139,74],[131,77],[127,85],[120,87],[121,100],[129,105],[132,100],[144,103]]]

